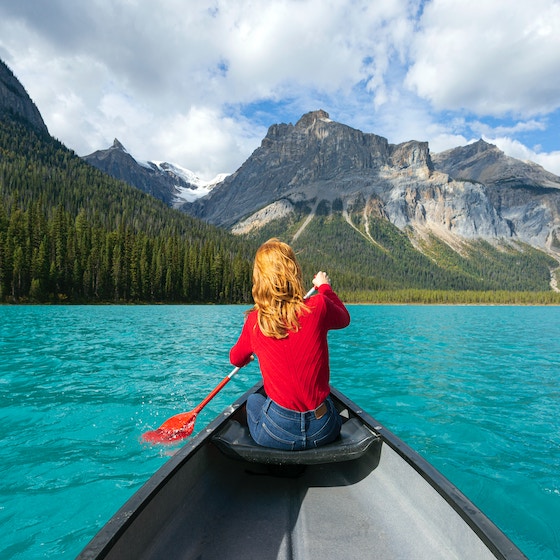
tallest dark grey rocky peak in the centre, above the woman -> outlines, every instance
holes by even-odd
[[[380,173],[427,177],[432,163],[426,142],[390,145],[386,138],[332,121],[323,110],[296,123],[276,124],[251,157],[204,200],[186,212],[231,227],[281,198],[345,200],[371,189]],[[404,171],[403,171],[404,170]]]

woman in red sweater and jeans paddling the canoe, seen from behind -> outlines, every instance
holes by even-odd
[[[350,323],[329,277],[313,279],[318,294],[304,301],[301,268],[292,248],[270,239],[257,250],[253,268],[254,308],[248,312],[231,363],[259,359],[266,397],[247,401],[253,439],[277,449],[301,450],[330,443],[341,419],[330,399],[327,331]]]

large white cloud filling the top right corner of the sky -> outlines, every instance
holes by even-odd
[[[436,109],[533,116],[560,107],[560,4],[433,0],[406,85]]]

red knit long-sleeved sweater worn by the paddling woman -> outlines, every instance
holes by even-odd
[[[230,351],[234,366],[245,365],[255,354],[266,394],[280,406],[300,412],[314,410],[329,395],[327,331],[350,323],[348,310],[328,284],[318,292],[306,301],[310,312],[299,317],[300,329],[287,338],[265,336],[257,312],[251,311]]]

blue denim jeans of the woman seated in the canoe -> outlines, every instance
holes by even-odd
[[[247,399],[247,423],[253,439],[265,447],[301,451],[334,441],[342,419],[330,397],[327,412],[317,419],[315,412],[297,412],[276,404],[260,393]]]

